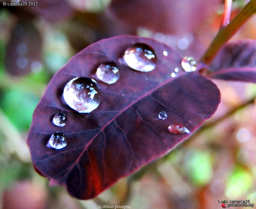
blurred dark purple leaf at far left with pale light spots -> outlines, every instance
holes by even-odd
[[[6,69],[20,76],[37,71],[42,66],[42,38],[32,22],[17,22],[6,49]]]

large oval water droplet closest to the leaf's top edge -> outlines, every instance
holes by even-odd
[[[132,45],[126,49],[123,58],[129,67],[137,71],[149,72],[156,67],[156,53],[147,44]]]

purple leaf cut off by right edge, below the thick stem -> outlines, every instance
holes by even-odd
[[[239,40],[224,45],[209,71],[211,78],[256,83],[256,41]]]

